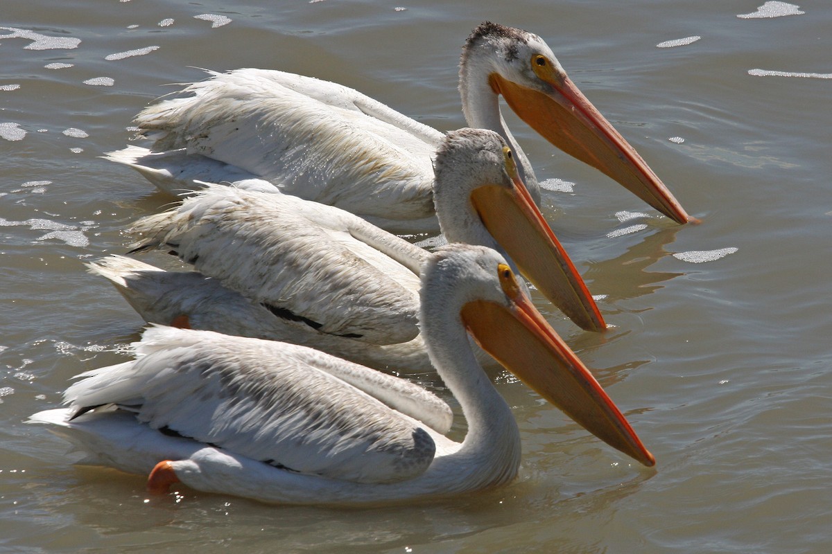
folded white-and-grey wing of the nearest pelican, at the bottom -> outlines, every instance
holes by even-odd
[[[424,426],[343,374],[395,380],[303,346],[159,327],[136,360],[82,374],[66,400],[80,410],[123,404],[152,428],[297,473],[359,483],[423,473],[435,453]]]

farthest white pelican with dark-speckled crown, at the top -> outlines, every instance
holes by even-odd
[[[442,133],[358,91],[258,69],[212,78],[136,118],[152,151],[130,146],[107,158],[171,193],[261,178],[267,187],[327,203],[391,233],[435,232],[431,158]],[[622,135],[583,96],[540,37],[484,22],[463,47],[459,92],[468,125],[497,131],[537,179],[505,125],[503,96],[552,145],[616,179],[678,223],[691,219]]]

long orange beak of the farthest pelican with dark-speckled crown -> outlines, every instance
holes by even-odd
[[[532,90],[497,73],[490,77],[493,91],[558,149],[612,177],[676,223],[694,220],[566,73],[551,63],[533,68],[550,91]]]

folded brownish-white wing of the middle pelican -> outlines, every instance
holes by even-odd
[[[133,230],[146,237],[139,248],[169,248],[226,287],[319,332],[374,344],[418,335],[425,252],[338,208],[210,186]]]

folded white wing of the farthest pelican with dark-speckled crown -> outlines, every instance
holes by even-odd
[[[438,130],[329,81],[257,69],[211,74],[188,86],[187,96],[161,101],[137,116],[136,125],[156,141],[153,150],[199,154],[192,166],[232,166],[228,176],[213,173],[203,180],[258,176],[285,193],[374,223],[406,219],[413,226],[424,219],[437,228],[431,159],[442,139]],[[146,165],[136,154],[110,158]],[[160,159],[147,159],[161,169]],[[167,161],[170,168],[181,162]],[[168,170],[177,184],[163,188],[194,188],[188,184],[192,171]]]

